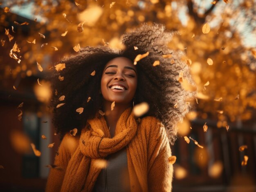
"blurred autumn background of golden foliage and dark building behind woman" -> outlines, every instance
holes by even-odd
[[[60,143],[45,80],[54,64],[84,46],[122,48],[120,35],[144,22],[177,31],[168,46],[186,52],[199,90],[171,146],[173,192],[256,191],[256,0],[3,0],[0,8],[0,191],[45,189]]]

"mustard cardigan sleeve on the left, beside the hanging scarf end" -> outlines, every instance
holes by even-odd
[[[51,168],[46,183],[45,192],[59,192],[65,176],[67,164],[70,161],[72,152],[76,148],[76,139],[68,133],[63,137],[58,148],[58,154],[55,156],[54,166]]]

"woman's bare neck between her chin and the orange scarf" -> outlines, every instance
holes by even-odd
[[[131,106],[131,104],[115,103],[113,110],[111,110],[111,104],[112,102],[103,101],[103,111],[105,112],[104,118],[106,119],[106,123],[110,130],[110,135],[111,137],[114,137],[119,117],[127,108]]]

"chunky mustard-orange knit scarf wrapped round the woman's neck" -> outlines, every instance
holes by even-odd
[[[67,165],[61,192],[80,192],[91,188],[92,181],[96,181],[100,169],[92,168],[90,163],[124,148],[135,136],[138,126],[131,107],[119,117],[113,138],[103,116],[88,119],[87,122],[90,126],[81,131],[79,146]]]

